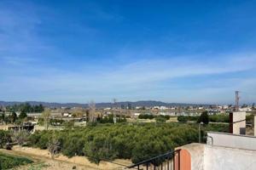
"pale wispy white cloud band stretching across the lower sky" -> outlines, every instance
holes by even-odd
[[[53,70],[52,68],[32,68],[31,71],[40,71],[40,75],[9,77],[5,82],[18,82],[19,87],[15,83],[6,87],[2,84],[2,88],[9,88],[10,92],[20,93],[20,89],[24,89],[28,94],[47,94],[50,98],[63,99],[71,101],[87,101],[89,99],[108,99],[112,95],[116,95],[121,99],[130,96],[131,99],[140,99],[140,95],[150,98],[160,99],[166,98],[166,91],[176,94],[175,91],[190,91],[191,96],[203,96],[203,94],[220,94],[230,88],[251,87],[254,79],[247,82],[243,78],[242,81],[236,81],[236,84],[225,80],[224,86],[217,88],[201,87],[194,90],[186,88],[178,88],[175,84],[177,78],[190,79],[193,77],[203,77],[211,75],[222,75],[227,73],[236,73],[240,71],[255,71],[256,55],[254,54],[229,54],[215,56],[214,59],[188,59],[188,57],[177,59],[148,59],[140,60],[127,65],[121,65],[115,71],[109,71],[108,65],[102,65],[101,71],[82,70],[82,71],[66,71]],[[83,65],[83,64],[81,64]],[[161,84],[174,80],[174,84],[168,87],[161,87]],[[254,81],[254,82],[253,82]],[[214,80],[212,80],[214,82]],[[226,82],[226,83],[225,83]],[[227,83],[230,84],[227,87]],[[256,85],[256,84],[255,84]],[[193,84],[191,84],[193,86]],[[176,87],[176,88],[174,88]],[[162,88],[162,89],[161,89]],[[235,89],[234,89],[235,90]],[[191,92],[192,91],[192,92]],[[193,92],[194,91],[194,92]],[[154,93],[155,92],[155,93]],[[216,93],[218,92],[218,93]],[[131,95],[133,94],[133,95]],[[151,94],[151,95],[150,95]],[[192,95],[193,94],[193,95]],[[83,97],[82,97],[83,96]],[[105,97],[104,97],[105,96]],[[131,97],[132,96],[132,97]],[[212,95],[214,97],[214,95]],[[212,99],[209,95],[209,101]],[[171,98],[172,99],[172,98]],[[178,98],[177,98],[178,99]],[[190,98],[189,98],[190,99]],[[180,99],[181,100],[181,99]],[[197,101],[200,99],[197,99]],[[227,100],[224,98],[224,100]],[[206,100],[207,101],[207,100]],[[191,101],[190,101],[191,102]]]

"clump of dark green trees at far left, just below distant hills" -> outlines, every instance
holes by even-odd
[[[20,111],[26,113],[42,113],[44,111],[43,105],[30,105],[29,103],[20,104],[20,105],[8,105],[6,106],[6,111],[13,112],[13,111]]]

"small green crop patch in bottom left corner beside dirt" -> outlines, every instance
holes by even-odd
[[[0,152],[0,170],[11,169],[13,167],[26,165],[32,162],[33,161],[27,159],[26,157],[11,156],[11,155],[3,154]]]

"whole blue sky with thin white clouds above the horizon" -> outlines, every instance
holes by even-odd
[[[0,0],[0,100],[256,103],[256,1]]]

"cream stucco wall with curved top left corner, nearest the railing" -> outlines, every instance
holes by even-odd
[[[219,147],[210,144],[187,144],[178,149],[191,156],[191,170],[256,169],[256,151]]]

